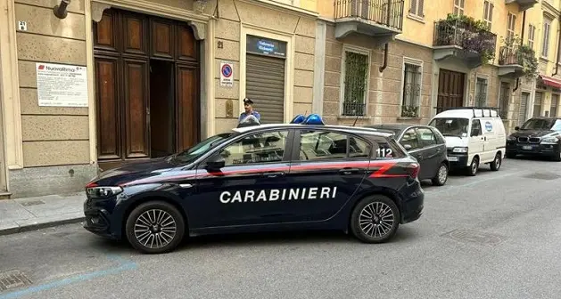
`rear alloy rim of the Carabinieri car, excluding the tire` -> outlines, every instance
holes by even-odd
[[[392,208],[383,202],[370,203],[360,211],[360,230],[373,238],[383,238],[391,232],[394,222]]]

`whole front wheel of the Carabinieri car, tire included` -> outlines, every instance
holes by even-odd
[[[155,226],[144,225],[154,223],[156,224]],[[161,228],[161,224],[165,228]],[[146,228],[144,229],[142,226]],[[151,228],[148,228],[149,226]],[[138,230],[135,231],[136,227],[138,227]],[[173,251],[183,240],[185,230],[186,225],[182,214],[177,211],[177,208],[163,201],[151,201],[136,206],[128,214],[126,224],[128,243],[141,253],[149,255]],[[163,235],[162,232],[164,233]],[[161,245],[158,245],[158,240],[160,240]]]

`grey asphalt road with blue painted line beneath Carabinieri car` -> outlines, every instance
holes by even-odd
[[[561,163],[508,159],[488,169],[428,183],[423,217],[384,245],[283,233],[139,255],[80,224],[0,237],[0,276],[30,280],[0,299],[557,298]]]

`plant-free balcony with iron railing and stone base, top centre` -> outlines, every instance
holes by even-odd
[[[352,33],[385,44],[401,33],[405,0],[335,0],[335,38]]]

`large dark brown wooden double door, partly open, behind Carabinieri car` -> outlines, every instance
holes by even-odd
[[[102,169],[185,150],[200,136],[200,53],[184,22],[106,10],[94,23]]]

